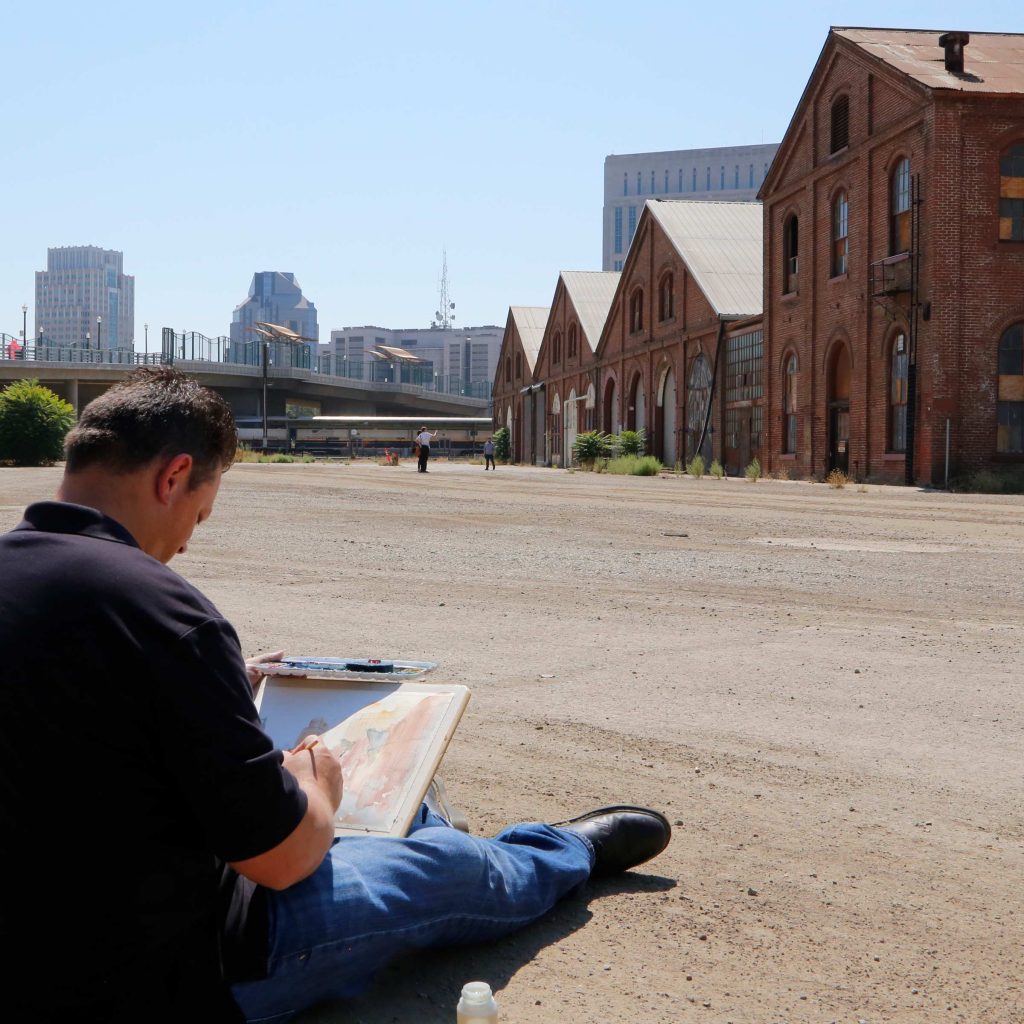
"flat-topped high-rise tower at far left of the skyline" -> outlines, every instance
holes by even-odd
[[[98,246],[46,250],[36,271],[36,337],[68,348],[132,348],[135,279],[124,256]]]

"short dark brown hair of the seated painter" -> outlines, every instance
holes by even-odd
[[[90,401],[65,440],[69,473],[90,466],[130,473],[161,457],[190,455],[193,486],[226,470],[237,449],[227,402],[169,367],[136,370]]]

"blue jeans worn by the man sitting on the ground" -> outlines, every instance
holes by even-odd
[[[590,877],[575,833],[512,825],[493,840],[424,806],[407,839],[335,840],[321,866],[267,891],[266,978],[232,987],[249,1021],[286,1021],[361,992],[397,953],[501,938],[547,913]]]

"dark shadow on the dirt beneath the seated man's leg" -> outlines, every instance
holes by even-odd
[[[588,883],[540,921],[504,939],[407,953],[381,972],[366,995],[309,1010],[296,1017],[295,1024],[394,1024],[413,1020],[418,1024],[451,1024],[467,981],[488,982],[500,1000],[501,990],[519,968],[591,920],[591,900],[624,893],[664,893],[677,885],[675,879],[638,871]],[[544,999],[546,994],[539,992],[538,998]]]

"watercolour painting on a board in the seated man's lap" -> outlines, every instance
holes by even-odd
[[[455,683],[268,676],[256,693],[281,750],[322,737],[341,757],[336,836],[406,836],[469,702]]]

